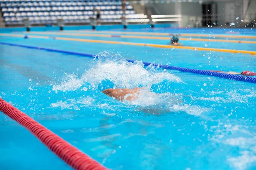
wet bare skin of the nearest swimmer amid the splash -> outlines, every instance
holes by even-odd
[[[114,97],[115,99],[121,100],[123,101],[124,99],[132,101],[134,99],[137,99],[137,95],[140,94],[140,90],[142,90],[143,88],[108,88],[104,91],[102,91],[102,93],[110,96],[110,97]],[[126,96],[127,95],[127,96]]]

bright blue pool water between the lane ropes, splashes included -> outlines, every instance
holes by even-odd
[[[188,31],[204,33],[202,29]],[[206,34],[210,31],[227,32],[212,28]],[[250,29],[239,31],[248,36],[254,34]],[[155,29],[154,32],[178,31]],[[99,59],[0,45],[0,97],[104,166],[113,170],[256,168],[255,84],[145,68],[140,62],[241,72],[256,71],[255,56],[52,37],[152,44],[168,44],[168,40],[43,36],[50,38],[0,36],[0,42],[99,54]],[[206,44],[182,43],[193,47]],[[256,44],[207,42],[207,47],[255,51]],[[131,64],[125,59],[138,62]],[[101,92],[101,87],[108,86],[146,88],[137,100],[120,102]],[[3,114],[0,126],[1,168],[71,169]]]

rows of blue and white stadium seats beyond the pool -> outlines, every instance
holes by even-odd
[[[1,11],[6,23],[22,23],[29,17],[33,23],[52,23],[57,18],[65,22],[89,21],[96,17],[95,8],[101,10],[101,20],[111,22],[122,15],[120,0],[0,0]],[[127,2],[125,14],[134,14]]]

